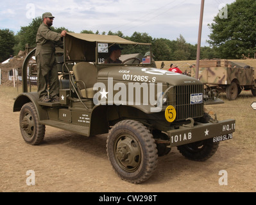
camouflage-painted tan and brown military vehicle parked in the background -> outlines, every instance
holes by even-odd
[[[240,62],[228,60],[201,60],[199,79],[216,95],[226,92],[229,101],[235,100],[242,90],[251,90],[256,96],[256,69]],[[196,76],[192,68],[191,76]]]

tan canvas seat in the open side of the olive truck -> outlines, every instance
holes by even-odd
[[[93,87],[97,83],[97,68],[93,64],[83,61],[74,65],[73,72],[81,97],[92,99],[96,94]]]

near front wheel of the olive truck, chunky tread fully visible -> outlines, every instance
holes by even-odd
[[[142,183],[157,168],[157,145],[148,128],[135,120],[115,124],[107,138],[107,154],[121,179]]]

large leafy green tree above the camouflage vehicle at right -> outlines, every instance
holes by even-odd
[[[218,56],[238,59],[254,56],[256,52],[256,1],[236,0],[228,4],[227,17],[217,15],[209,24],[211,32],[208,41]]]

